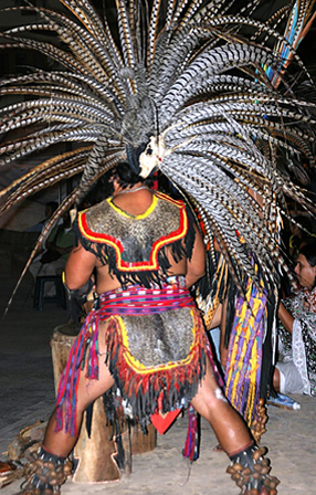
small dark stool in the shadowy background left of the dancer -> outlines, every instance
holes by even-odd
[[[55,284],[56,294],[54,296],[44,295],[44,288],[48,282],[50,283],[53,282]],[[65,287],[63,285],[61,275],[36,276],[33,308],[39,309],[41,312],[45,303],[56,303],[57,306],[61,306],[63,309],[66,309],[67,303],[66,303]]]

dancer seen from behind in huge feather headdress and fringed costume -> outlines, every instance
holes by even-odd
[[[295,99],[286,83],[286,64],[278,54],[278,48],[284,46],[287,59],[292,57],[308,76],[291,40],[277,31],[286,9],[263,22],[255,20],[260,3],[255,0],[240,13],[233,13],[232,2],[225,0],[154,0],[150,8],[138,0],[116,0],[114,33],[107,19],[101,20],[88,0],[57,3],[62,8],[55,10],[27,2],[22,9],[34,12],[36,21],[1,33],[2,48],[36,50],[57,64],[53,71],[28,70],[1,81],[3,96],[24,96],[1,110],[1,133],[7,133],[0,147],[1,165],[18,166],[28,155],[60,143],[81,146],[43,161],[12,182],[1,192],[1,212],[30,193],[82,175],[78,187],[63,201],[53,222],[70,206],[80,204],[89,187],[110,169],[115,193],[114,201],[80,213],[76,220],[81,247],[71,255],[66,283],[76,288],[96,266],[101,281],[104,270],[108,275],[98,292],[112,293],[110,297],[99,297],[99,307],[88,316],[72,351],[60,385],[57,413],[52,417],[40,453],[43,470],[63,465],[74,445],[81,413],[88,402],[81,383],[94,383],[92,400],[115,380],[122,397],[133,404],[135,417],[145,424],[152,413],[173,410],[181,399],[191,401],[210,420],[230,454],[232,473],[238,472],[233,477],[239,480],[242,493],[274,494],[276,481],[266,474],[263,451],[251,442],[241,418],[211,377],[211,351],[188,288],[181,277],[170,281],[168,276],[179,275],[186,261],[187,285],[194,286],[206,322],[220,299],[229,302],[230,314],[241,322],[236,327],[242,330],[242,345],[234,359],[243,362],[244,369],[238,370],[239,375],[232,370],[232,382],[244,382],[245,387],[238,393],[233,387],[231,393],[228,376],[228,393],[238,396],[241,406],[236,408],[251,421],[268,382],[270,370],[263,380],[261,365],[271,355],[280,273],[288,272],[278,239],[281,215],[287,214],[285,198],[315,212],[313,201],[278,169],[280,160],[284,162],[287,157],[302,154],[313,165],[309,144],[314,139],[310,126],[315,124],[315,106]],[[303,25],[308,24],[314,3],[297,2],[299,15],[308,14]],[[277,91],[271,72],[277,77]],[[10,139],[14,129],[24,129],[24,137]],[[128,164],[129,175],[117,167],[122,160]],[[144,189],[144,181],[155,170],[167,176],[185,202],[159,193],[149,201],[151,192]],[[134,201],[126,200],[130,197]],[[150,206],[144,215],[140,206],[148,201]],[[152,230],[146,219],[154,210],[158,217],[157,229]],[[105,221],[105,213],[109,220]],[[130,215],[139,221],[139,231],[130,228]],[[203,271],[199,268],[194,274],[193,270],[196,252],[199,263],[204,263],[202,238],[193,217],[201,224],[208,247],[203,281],[198,281]],[[147,235],[149,227],[151,233]],[[213,239],[221,252],[219,259]],[[84,261],[80,271],[77,261]],[[177,266],[181,266],[180,272]],[[110,286],[110,280],[118,285]],[[117,296],[118,286],[128,289],[129,303]],[[109,299],[115,299],[115,309],[109,307]],[[140,304],[140,312],[146,307],[148,313],[146,328],[141,323],[131,324],[135,315],[130,307],[136,303]],[[176,323],[168,327],[160,315],[164,310],[170,315],[172,305],[181,307],[178,325],[189,341],[181,358],[175,355]],[[182,313],[189,308],[191,319]],[[131,313],[117,316],[126,312]],[[170,352],[161,351],[164,364],[156,366],[155,356],[154,369],[150,367],[148,349],[138,349],[139,336],[135,338],[134,326],[139,335],[155,329],[152,338],[158,354],[159,346],[166,345],[166,335],[170,337]],[[104,340],[98,338],[99,328],[106,339],[105,350]],[[108,368],[98,362],[99,348],[106,352]],[[135,359],[133,349],[136,355],[140,352],[146,366],[141,359]],[[84,364],[87,378],[80,371]],[[206,385],[199,387],[204,376]],[[63,421],[65,431],[59,430]],[[230,440],[225,432],[231,433]],[[252,476],[254,471],[260,474]],[[27,489],[36,485],[42,491],[52,488],[53,477],[49,472],[42,483],[30,471]]]

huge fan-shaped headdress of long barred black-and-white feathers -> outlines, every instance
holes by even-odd
[[[239,289],[245,278],[259,280],[246,244],[275,295],[276,266],[286,265],[278,243],[286,198],[315,212],[286,168],[302,155],[314,164],[315,104],[295,97],[286,71],[292,60],[308,80],[295,48],[315,0],[288,2],[264,21],[256,18],[260,3],[116,0],[115,27],[89,0],[3,9],[3,17],[20,11],[35,20],[2,29],[1,48],[39,51],[54,69],[1,80],[3,101],[15,101],[1,109],[0,167],[19,167],[52,145],[73,146],[2,190],[0,213],[82,176],[61,214],[136,152],[144,177],[158,169],[186,196]],[[23,137],[12,138],[14,130]]]

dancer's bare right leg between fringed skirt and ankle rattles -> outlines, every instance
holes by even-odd
[[[207,375],[191,403],[209,421],[221,446],[229,455],[243,450],[253,441],[242,417],[221,392],[209,361]]]

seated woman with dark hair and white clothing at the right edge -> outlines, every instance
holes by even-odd
[[[273,382],[282,393],[316,393],[316,243],[301,249],[295,273],[302,286],[280,304],[281,359]]]

